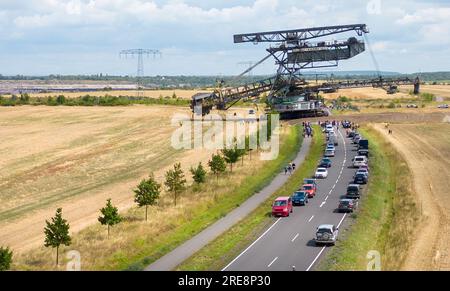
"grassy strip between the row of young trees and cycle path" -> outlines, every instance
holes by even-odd
[[[177,207],[173,207],[170,195],[164,195],[159,205],[150,210],[148,223],[143,221],[143,209],[132,208],[122,214],[125,221],[112,229],[109,240],[106,229],[100,225],[76,234],[70,249],[81,253],[82,269],[143,269],[225,216],[267,185],[298,152],[302,142],[298,127],[284,131],[277,160],[250,163],[247,158],[245,166],[239,165],[233,173],[219,180],[209,179],[200,190],[190,188]],[[51,250],[33,250],[18,256],[14,269],[53,269],[52,257]]]

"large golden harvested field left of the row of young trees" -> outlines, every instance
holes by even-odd
[[[96,222],[108,198],[120,210],[132,206],[132,189],[149,173],[162,180],[175,162],[187,170],[206,161],[211,152],[171,147],[174,113],[189,110],[0,108],[0,245],[15,252],[42,245],[57,207],[77,232]]]

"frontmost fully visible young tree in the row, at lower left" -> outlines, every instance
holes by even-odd
[[[72,239],[69,235],[69,224],[67,220],[62,218],[62,209],[56,210],[55,217],[52,217],[52,221],[45,221],[47,227],[44,228],[45,234],[45,247],[56,248],[56,266],[59,262],[59,247],[61,245],[69,246],[72,243]]]

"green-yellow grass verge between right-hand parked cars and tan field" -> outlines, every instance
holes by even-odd
[[[343,240],[322,261],[319,270],[364,271],[366,256],[381,254],[383,270],[399,270],[419,218],[406,162],[375,130],[361,130],[371,145],[371,180],[361,208]]]

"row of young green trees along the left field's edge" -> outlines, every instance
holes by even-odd
[[[246,139],[245,149],[239,149],[235,143],[231,149],[224,149],[219,153],[213,154],[208,161],[208,167],[210,173],[214,178],[224,174],[227,170],[227,164],[230,167],[230,172],[233,172],[233,166],[244,156],[250,153],[249,138]],[[206,183],[208,172],[202,163],[199,163],[196,167],[190,168],[190,173],[194,181],[193,186],[199,186]],[[165,173],[164,186],[168,193],[173,197],[174,206],[177,205],[179,196],[186,190],[187,180],[185,173],[182,170],[181,164],[177,163],[172,169]],[[148,220],[148,208],[156,206],[161,197],[162,184],[160,184],[153,174],[150,174],[148,178],[143,179],[135,189],[134,202],[139,208],[145,208],[145,221]],[[98,222],[107,228],[107,237],[110,237],[111,228],[118,225],[123,221],[122,215],[119,213],[119,209],[113,205],[112,200],[108,199],[106,205],[100,210],[100,216]],[[70,246],[72,243],[72,237],[70,236],[70,224],[63,218],[62,208],[56,210],[55,216],[50,220],[47,220],[44,228],[45,241],[44,246],[53,248],[56,251],[56,266],[59,265],[59,250],[61,246]],[[8,247],[0,248],[0,271],[10,269],[13,260],[13,252]]]

